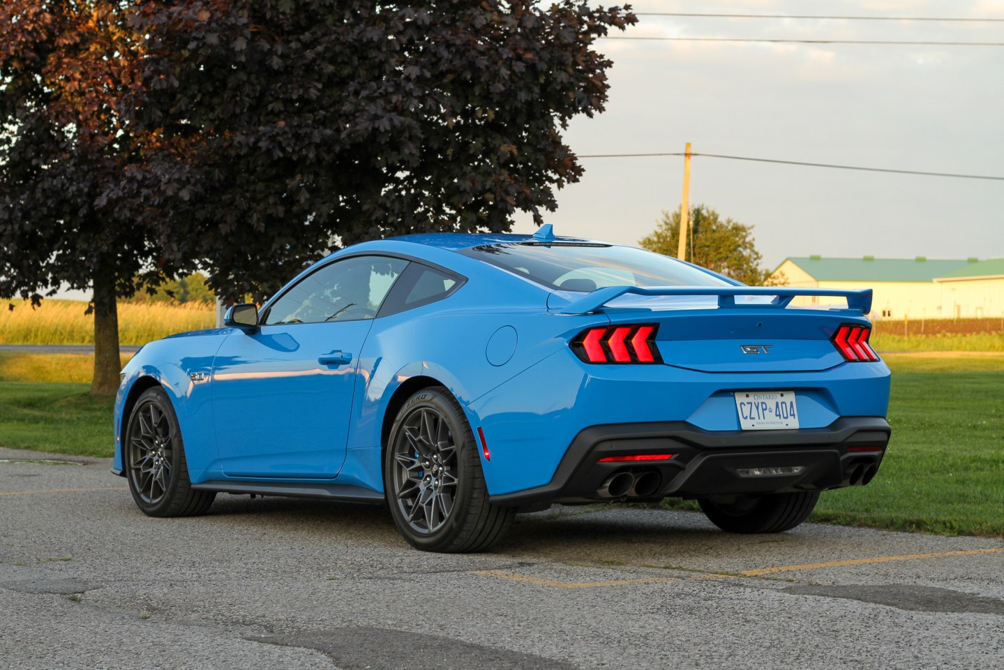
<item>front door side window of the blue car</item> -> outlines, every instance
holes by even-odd
[[[406,265],[407,260],[387,256],[353,256],[328,263],[272,303],[264,324],[373,318]]]

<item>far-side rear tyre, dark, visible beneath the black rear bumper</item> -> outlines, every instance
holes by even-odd
[[[819,491],[730,497],[729,502],[699,498],[698,503],[708,519],[726,532],[783,532],[808,518]]]

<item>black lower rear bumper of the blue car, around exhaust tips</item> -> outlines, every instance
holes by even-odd
[[[740,493],[824,490],[865,484],[889,443],[881,417],[843,417],[825,428],[706,431],[683,421],[609,424],[581,431],[544,486],[491,496],[496,504],[659,499]],[[667,454],[662,461],[598,462],[610,456]],[[763,472],[764,468],[780,468]],[[749,470],[760,469],[760,472]],[[640,483],[611,495],[610,478]],[[654,477],[653,474],[658,475]],[[645,486],[641,487],[643,475]],[[620,477],[619,483],[628,481]]]

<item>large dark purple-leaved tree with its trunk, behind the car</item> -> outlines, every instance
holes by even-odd
[[[116,295],[202,269],[261,299],[341,244],[539,219],[582,173],[561,132],[603,109],[592,44],[629,9],[6,0],[0,297],[91,286],[110,393]]]

